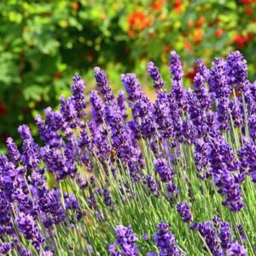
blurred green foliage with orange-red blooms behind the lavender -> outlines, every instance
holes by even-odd
[[[95,86],[93,67],[105,69],[113,90],[120,73],[137,73],[150,95],[146,65],[154,61],[171,86],[169,52],[177,50],[186,72],[195,60],[241,50],[256,76],[255,0],[2,0],[0,3],[0,150],[47,106],[69,95],[74,73]]]

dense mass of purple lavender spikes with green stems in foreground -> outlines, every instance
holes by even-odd
[[[10,255],[254,255],[256,84],[238,52],[197,60],[189,90],[171,52],[172,90],[148,63],[150,102],[133,73],[113,95],[73,78],[60,110],[27,125],[0,155],[0,253]]]

